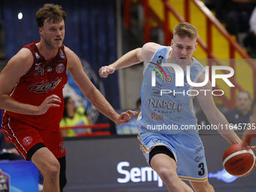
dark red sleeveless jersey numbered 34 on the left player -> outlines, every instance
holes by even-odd
[[[41,115],[17,114],[11,111],[6,111],[6,114],[35,126],[35,128],[51,132],[59,129],[59,122],[63,115],[62,88],[68,81],[66,75],[67,58],[62,44],[53,59],[45,60],[35,45],[36,43],[38,42],[24,46],[31,50],[34,62],[29,72],[17,82],[10,96],[18,102],[39,106],[47,96],[56,94],[62,102],[58,103],[60,105],[58,108],[51,107],[45,114]]]

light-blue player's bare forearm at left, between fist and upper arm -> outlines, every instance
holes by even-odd
[[[142,48],[131,50],[130,52],[121,56],[120,59],[117,59],[117,61],[110,66],[114,67],[114,69],[117,70],[138,64],[139,62],[143,61],[141,52]]]

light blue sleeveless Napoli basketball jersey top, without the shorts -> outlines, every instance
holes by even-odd
[[[175,134],[194,127],[197,132],[197,118],[194,113],[193,96],[196,92],[187,83],[184,69],[184,87],[175,87],[175,71],[162,66],[172,47],[160,46],[151,61],[146,63],[142,83],[142,115],[139,124],[151,132]],[[170,62],[170,61],[168,61]],[[155,87],[151,86],[152,71],[155,71]],[[190,64],[190,81],[197,82],[205,68],[193,58]],[[166,90],[166,91],[164,91]]]

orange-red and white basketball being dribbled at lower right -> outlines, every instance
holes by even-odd
[[[230,175],[244,177],[254,169],[255,155],[251,149],[242,150],[241,144],[234,144],[224,152],[222,163]]]

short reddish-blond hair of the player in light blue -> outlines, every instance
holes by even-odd
[[[197,28],[190,23],[179,23],[173,30],[173,35],[178,35],[180,38],[197,38]]]

